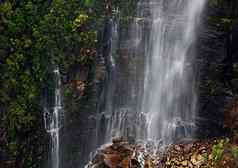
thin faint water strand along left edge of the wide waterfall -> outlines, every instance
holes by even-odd
[[[115,91],[115,79],[116,79],[116,63],[115,52],[118,46],[118,23],[112,19],[108,21],[107,25],[107,37],[105,45],[108,46],[108,57],[106,59],[107,78],[105,83],[103,111],[99,111],[97,117],[97,145],[104,144],[110,141],[112,134],[111,130],[114,110],[114,91]]]

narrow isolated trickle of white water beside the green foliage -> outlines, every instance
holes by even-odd
[[[62,107],[62,96],[61,96],[61,80],[59,69],[54,69],[55,78],[55,90],[54,90],[54,105],[53,108],[45,107],[44,109],[44,121],[46,131],[51,137],[51,168],[60,167],[60,129],[63,124],[63,107]]]

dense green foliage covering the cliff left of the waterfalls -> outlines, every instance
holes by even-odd
[[[36,167],[39,161],[33,149],[41,145],[35,138],[42,136],[42,89],[50,86],[52,64],[67,75],[76,66],[93,63],[104,5],[103,0],[0,2],[0,108],[5,107],[5,146],[9,156],[23,155],[22,167]]]

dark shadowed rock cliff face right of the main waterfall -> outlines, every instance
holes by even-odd
[[[224,112],[237,95],[237,1],[207,2],[197,42],[200,135],[223,135]],[[222,131],[223,130],[223,131]]]

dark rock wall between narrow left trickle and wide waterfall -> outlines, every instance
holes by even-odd
[[[73,94],[65,97],[65,125],[61,133],[63,167],[83,167],[89,159],[90,152],[96,148],[96,114],[103,95],[106,74],[106,55],[103,52],[104,47],[108,47],[101,44],[107,38],[106,31],[105,29],[99,32],[99,45],[94,63],[87,68],[80,67],[74,71]]]

